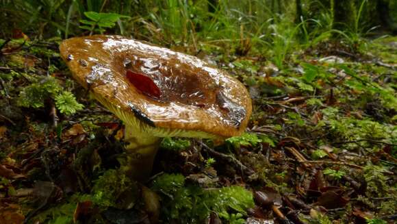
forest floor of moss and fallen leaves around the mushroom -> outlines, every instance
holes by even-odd
[[[162,223],[396,221],[396,37],[320,42],[283,68],[200,53],[248,88],[247,132],[218,147],[164,139],[144,184],[118,173],[123,125],[58,44],[0,40],[0,223],[149,223],[144,186]]]

